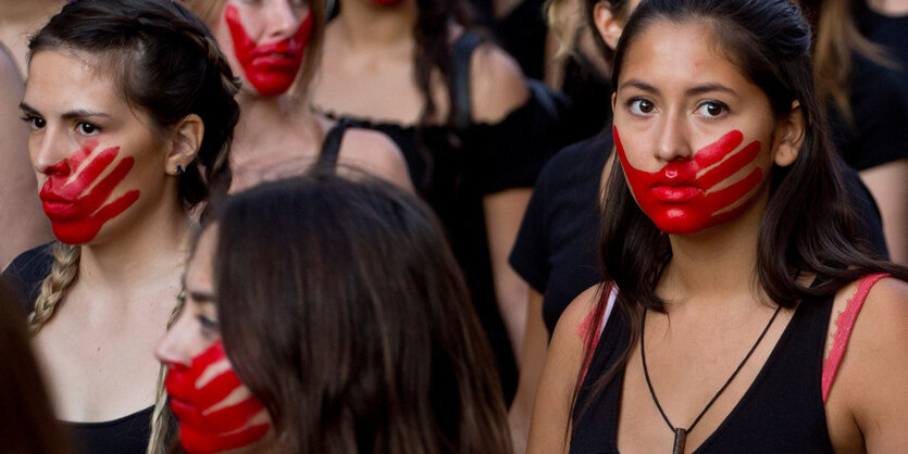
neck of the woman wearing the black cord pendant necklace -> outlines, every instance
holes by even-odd
[[[763,301],[757,281],[757,244],[767,196],[730,222],[687,236],[671,236],[672,258],[659,282],[669,302],[725,305]]]

